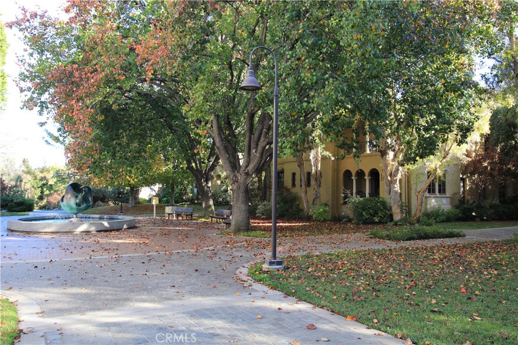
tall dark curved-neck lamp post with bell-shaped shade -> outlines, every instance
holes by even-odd
[[[283,269],[281,259],[277,259],[277,146],[279,143],[279,86],[277,78],[277,56],[274,51],[268,47],[258,46],[252,49],[249,58],[249,69],[247,76],[244,78],[243,83],[239,87],[243,91],[258,91],[262,87],[255,78],[255,72],[252,67],[252,54],[257,49],[265,49],[274,57],[275,62],[275,85],[274,85],[274,147],[273,147],[273,179],[272,179],[272,191],[271,191],[271,258],[265,259],[263,269]]]

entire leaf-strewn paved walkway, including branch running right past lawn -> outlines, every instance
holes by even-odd
[[[402,344],[251,281],[268,239],[216,235],[220,226],[137,219],[132,230],[21,235],[1,221],[2,294],[18,299],[20,344]],[[517,228],[396,244],[361,234],[279,239],[286,253],[487,241]],[[306,329],[308,324],[316,329]],[[329,339],[328,341],[326,341]]]

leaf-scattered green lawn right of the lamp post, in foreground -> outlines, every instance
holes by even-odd
[[[284,258],[256,280],[416,344],[518,339],[518,239]]]

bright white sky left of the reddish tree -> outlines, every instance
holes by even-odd
[[[64,0],[18,0],[5,1],[0,7],[2,22],[15,20],[21,13],[19,7],[36,9],[38,6],[46,9],[50,14],[57,14]],[[23,158],[27,158],[34,168],[43,166],[64,166],[64,148],[60,145],[46,144],[44,129],[56,132],[55,125],[50,124],[44,128],[38,122],[45,121],[37,111],[21,110],[23,96],[15,84],[15,79],[20,72],[17,66],[16,55],[23,54],[23,42],[19,38],[16,29],[5,28],[7,36],[6,65],[4,70],[8,73],[7,104],[0,113],[0,165],[6,166],[14,163],[19,167]]]

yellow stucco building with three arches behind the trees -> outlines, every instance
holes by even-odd
[[[382,196],[386,198],[385,183],[383,182],[383,169],[380,154],[376,148],[369,147],[363,138],[359,146],[362,150],[359,163],[355,161],[352,152],[345,152],[332,143],[325,143],[324,150],[329,153],[322,156],[321,172],[322,185],[320,188],[320,202],[329,205],[330,213],[339,216],[342,212],[348,213],[346,191],[361,197]],[[362,140],[362,138],[360,138]],[[340,159],[345,155],[344,159]],[[311,172],[309,154],[304,155],[307,181]],[[296,159],[293,157],[281,158],[278,163],[279,187],[283,186],[301,196],[300,170]],[[408,208],[408,213],[413,215],[417,199],[415,191],[421,189],[427,179],[427,173],[423,168],[420,172],[404,174],[401,179],[401,202]],[[432,208],[449,209],[464,198],[465,182],[461,178],[460,164],[452,164],[444,169],[444,175],[440,179],[434,179],[430,184],[423,200],[423,211]],[[311,203],[313,186],[307,183],[308,200]]]

